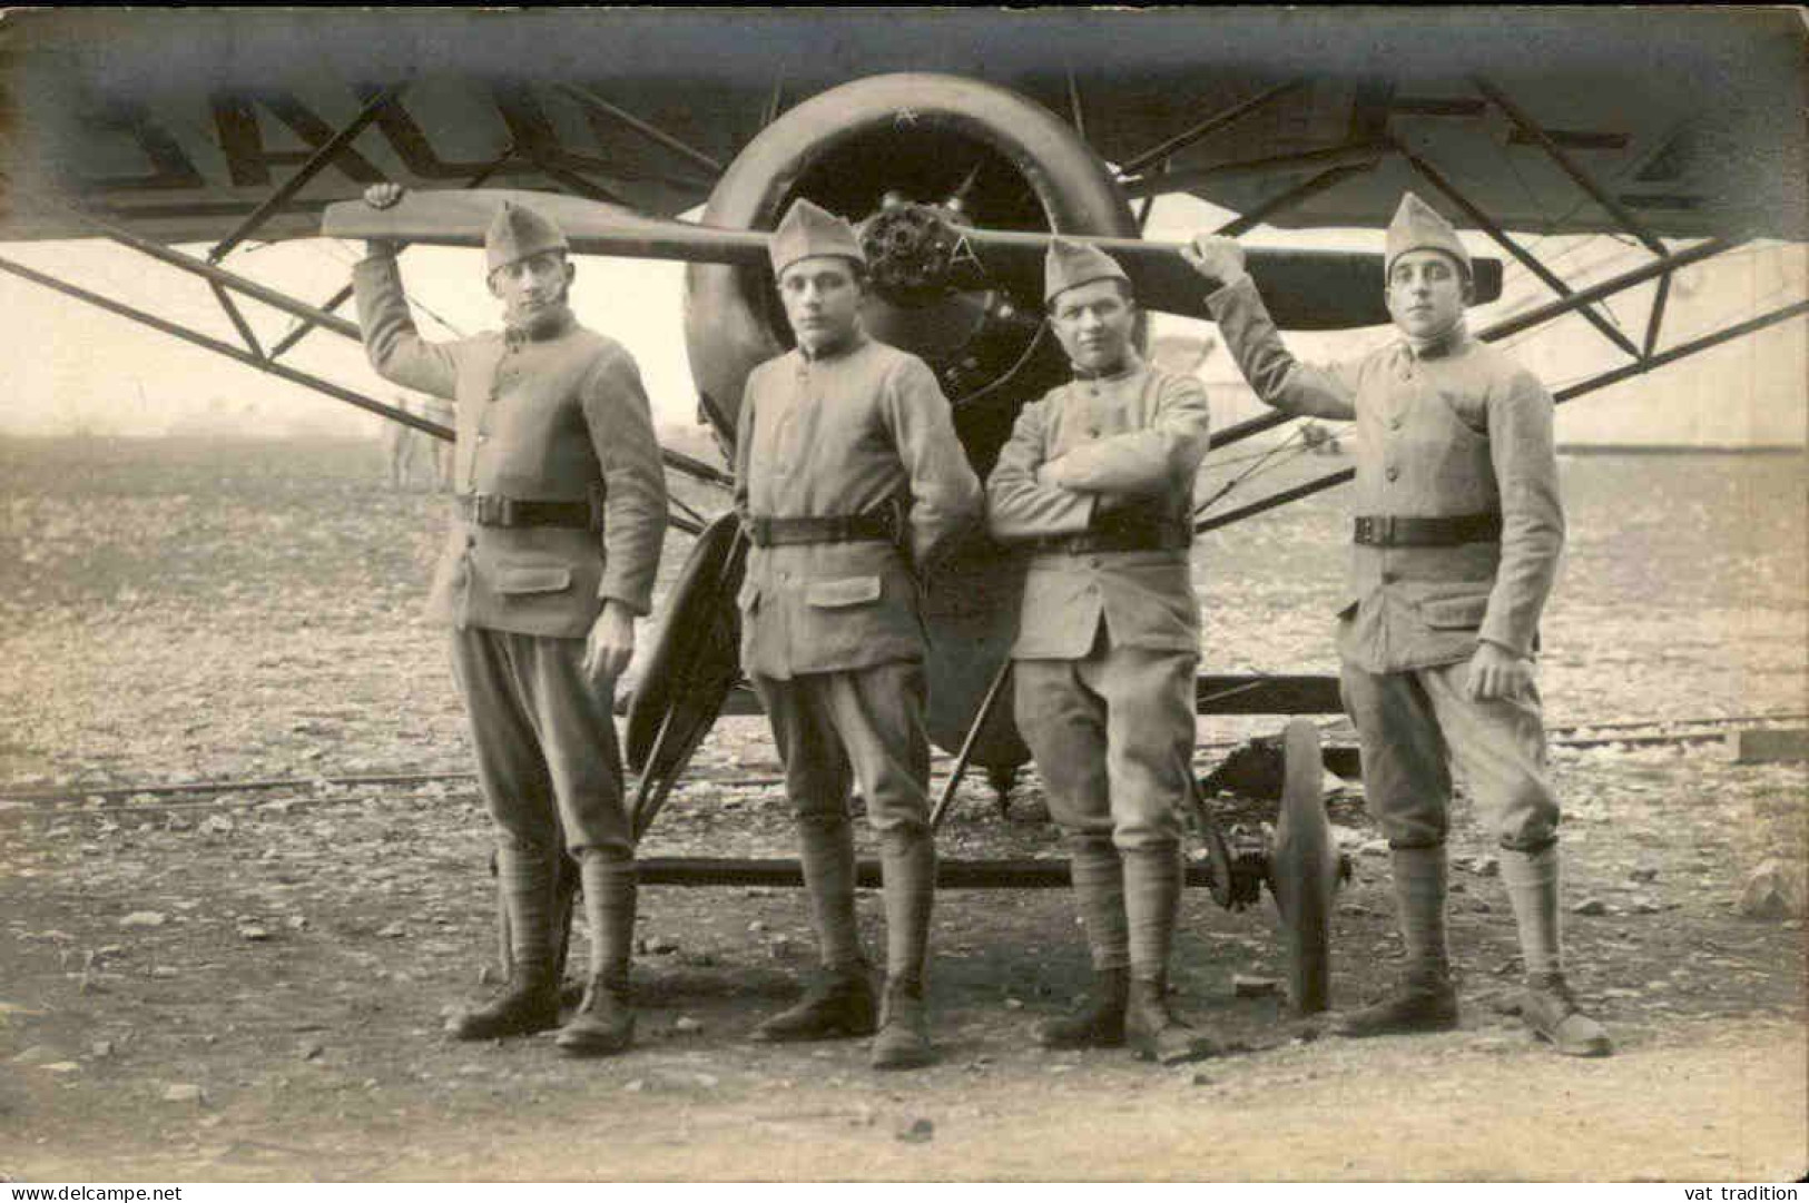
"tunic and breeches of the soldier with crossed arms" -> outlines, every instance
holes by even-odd
[[[1037,550],[1024,581],[1011,648],[1018,729],[1056,821],[1109,830],[1120,848],[1181,834],[1199,662],[1185,541],[1208,434],[1205,387],[1132,356],[1109,376],[1076,371],[1026,405],[986,487],[988,530],[1002,541],[1084,534],[1100,494],[1185,532],[1172,550]]]

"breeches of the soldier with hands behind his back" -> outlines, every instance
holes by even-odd
[[[753,675],[800,816],[843,814],[850,780],[877,832],[930,825],[923,662],[845,673]]]

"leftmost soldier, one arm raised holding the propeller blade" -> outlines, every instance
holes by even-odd
[[[400,195],[365,192],[376,208]],[[371,242],[353,286],[378,374],[458,405],[452,530],[431,610],[452,626],[514,964],[501,997],[447,1028],[483,1040],[559,1022],[554,899],[570,850],[592,961],[557,1042],[586,1056],[633,1038],[635,847],[610,695],[651,602],[666,479],[635,360],[568,308],[566,253],[557,226],[505,204],[485,237],[505,329],[458,342],[416,335],[391,244]]]

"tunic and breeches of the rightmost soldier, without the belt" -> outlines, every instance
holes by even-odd
[[[1565,539],[1550,394],[1462,322],[1427,346],[1400,340],[1317,367],[1286,351],[1248,277],[1207,304],[1259,398],[1355,420],[1359,516],[1500,514],[1500,539],[1351,546],[1339,613],[1344,702],[1369,807],[1395,847],[1444,843],[1449,762],[1505,847],[1549,845],[1559,810],[1538,689],[1474,702],[1465,682],[1480,640],[1516,657],[1538,649]]]

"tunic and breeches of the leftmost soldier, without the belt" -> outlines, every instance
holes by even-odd
[[[640,373],[570,318],[541,336],[420,338],[394,259],[353,270],[371,365],[458,405],[461,496],[601,499],[602,532],[479,525],[463,507],[429,602],[452,626],[452,666],[490,814],[517,847],[631,850],[610,686],[584,671],[604,601],[648,613],[666,481]]]

